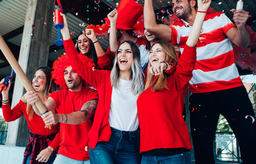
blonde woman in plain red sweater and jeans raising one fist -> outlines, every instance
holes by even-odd
[[[137,100],[142,164],[191,163],[183,118],[185,94],[196,64],[196,43],[211,0],[198,1],[196,20],[178,59],[174,46],[159,41],[150,50],[146,87]]]

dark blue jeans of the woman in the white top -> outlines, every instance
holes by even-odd
[[[119,131],[111,128],[109,141],[100,141],[89,148],[91,164],[139,164],[139,131]]]

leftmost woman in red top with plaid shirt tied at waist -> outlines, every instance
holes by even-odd
[[[1,83],[3,83],[3,80]],[[51,68],[38,68],[34,74],[32,85],[40,99],[44,102],[47,95],[56,90],[55,85],[51,85]],[[45,128],[45,122],[43,122],[43,119],[39,116],[40,112],[32,109],[30,103],[27,102],[27,94],[24,94],[19,103],[11,109],[8,99],[9,90],[10,81],[7,89],[2,91],[3,118],[6,122],[12,122],[24,115],[27,120],[27,125],[30,128],[23,164],[53,163],[56,157],[58,143],[54,143],[52,140],[56,133],[58,133],[58,125]]]

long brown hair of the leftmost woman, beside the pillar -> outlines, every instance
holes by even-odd
[[[45,91],[43,93],[43,102],[47,99],[47,96],[51,94],[51,92],[56,91],[56,85],[53,80],[51,80],[51,68],[45,66],[45,67],[40,67],[37,68],[36,71],[42,70],[45,73],[46,77],[46,86],[45,86]],[[28,119],[31,120],[32,116],[34,115],[34,110],[32,109],[32,105],[27,103],[27,108],[26,108],[27,114],[28,114]]]

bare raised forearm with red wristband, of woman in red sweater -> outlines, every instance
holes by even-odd
[[[189,38],[187,38],[187,46],[196,46],[198,38],[200,36],[200,31],[202,29],[202,23],[205,20],[205,14],[211,4],[211,0],[198,0],[198,12],[196,13],[196,18],[193,23],[191,32],[189,33]]]

